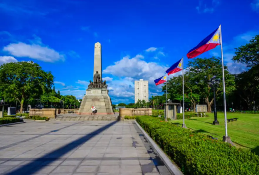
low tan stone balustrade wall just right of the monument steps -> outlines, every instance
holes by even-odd
[[[120,108],[119,116],[124,118],[125,116],[139,116],[139,115],[152,115],[152,108]]]

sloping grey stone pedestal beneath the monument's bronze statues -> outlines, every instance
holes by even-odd
[[[112,110],[111,98],[108,95],[108,92],[109,91],[107,90],[107,88],[87,89],[77,114],[91,115],[92,106],[96,107],[96,110],[97,110],[96,115],[114,114]]]

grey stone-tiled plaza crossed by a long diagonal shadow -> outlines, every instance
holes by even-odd
[[[170,174],[134,121],[47,121],[0,127],[0,174]]]

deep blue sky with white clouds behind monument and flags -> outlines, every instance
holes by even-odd
[[[103,79],[112,102],[134,101],[134,80],[154,79],[222,25],[224,63],[259,34],[259,0],[1,0],[0,64],[34,61],[55,77],[62,95],[82,98],[93,77],[94,44],[102,45]],[[200,57],[220,56],[220,47]],[[186,65],[186,64],[185,64]],[[180,73],[180,72],[179,72]]]

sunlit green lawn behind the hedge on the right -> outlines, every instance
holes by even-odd
[[[185,119],[188,128],[200,133],[209,135],[215,133],[219,139],[225,135],[224,113],[218,113],[218,121],[220,125],[213,125],[213,113],[210,117],[193,117]],[[259,114],[237,114],[227,113],[227,119],[238,118],[237,121],[227,122],[228,135],[238,147],[252,150],[259,155]],[[171,120],[174,124],[182,124],[183,120]]]

